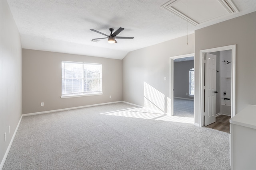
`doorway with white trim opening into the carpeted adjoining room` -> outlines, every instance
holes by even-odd
[[[170,115],[194,120],[194,53],[170,57]]]

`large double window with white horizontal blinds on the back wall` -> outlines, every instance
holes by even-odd
[[[102,64],[62,61],[62,96],[102,94]]]

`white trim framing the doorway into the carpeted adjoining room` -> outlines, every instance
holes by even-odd
[[[195,54],[191,53],[191,54],[185,54],[185,55],[178,55],[178,56],[174,56],[174,57],[170,57],[170,115],[173,116],[173,80],[174,80],[174,70],[173,70],[173,63],[174,63],[174,59],[181,59],[181,58],[186,58],[186,57],[194,57]],[[195,65],[195,60],[194,60],[194,65]],[[194,102],[194,108],[195,108],[195,102]],[[195,113],[195,109],[194,109],[194,113]]]

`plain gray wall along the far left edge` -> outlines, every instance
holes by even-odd
[[[0,1],[0,160],[22,115],[22,47],[20,34],[6,1]],[[10,126],[10,133],[9,133]],[[6,141],[4,141],[6,133]]]

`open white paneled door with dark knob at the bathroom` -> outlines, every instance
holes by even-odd
[[[216,121],[216,55],[206,53],[205,64],[205,97],[204,97],[204,125]]]

